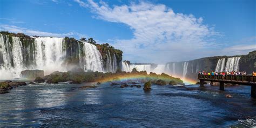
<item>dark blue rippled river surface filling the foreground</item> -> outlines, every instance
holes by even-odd
[[[250,86],[110,86],[37,84],[0,95],[0,127],[219,127],[256,126],[256,101]],[[225,98],[231,94],[234,98]]]

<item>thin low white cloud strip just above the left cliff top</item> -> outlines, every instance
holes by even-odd
[[[18,27],[14,25],[2,25],[0,24],[1,31],[8,31],[13,33],[24,33],[27,35],[38,35],[38,36],[49,36],[49,37],[75,37],[82,38],[87,37],[85,34],[80,34],[77,32],[69,32],[69,33],[51,33],[51,32],[43,32],[38,30],[30,30],[24,27]]]

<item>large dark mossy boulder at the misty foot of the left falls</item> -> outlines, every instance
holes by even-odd
[[[44,70],[23,70],[21,75],[23,78],[35,79],[36,77],[44,77]]]

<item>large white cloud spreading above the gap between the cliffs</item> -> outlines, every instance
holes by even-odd
[[[110,7],[102,1],[76,2],[90,8],[96,18],[123,23],[133,30],[132,39],[111,43],[124,51],[126,60],[158,63],[191,60],[205,47],[219,46],[211,38],[219,33],[203,24],[203,18],[175,13],[164,4],[140,2]]]

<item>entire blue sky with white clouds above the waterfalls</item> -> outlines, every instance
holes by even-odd
[[[0,1],[0,29],[92,37],[124,60],[165,63],[256,49],[255,1]]]

